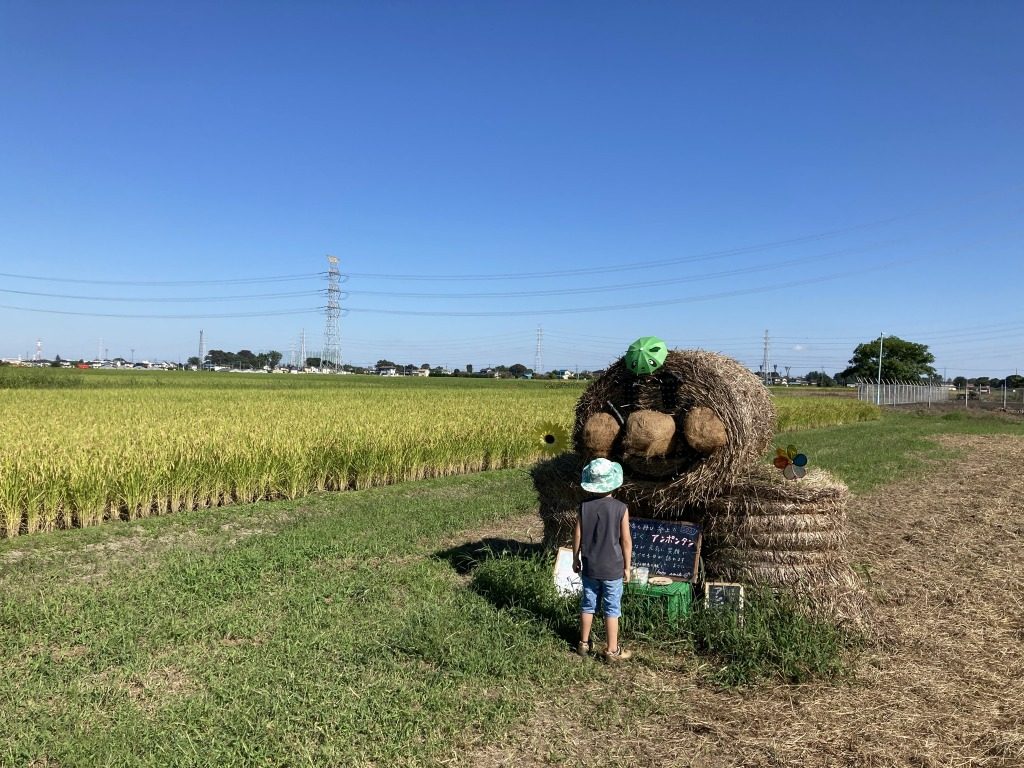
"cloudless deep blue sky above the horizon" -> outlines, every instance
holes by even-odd
[[[766,331],[795,374],[880,332],[1024,370],[1021,40],[1020,2],[3,0],[0,356],[312,353],[334,254],[356,365],[543,328],[545,370]]]

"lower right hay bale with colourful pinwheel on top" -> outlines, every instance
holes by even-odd
[[[707,577],[785,590],[815,614],[859,624],[865,599],[846,554],[848,499],[822,469],[794,481],[756,467],[705,506]]]

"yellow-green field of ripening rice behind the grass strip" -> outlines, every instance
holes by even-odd
[[[526,466],[583,387],[0,369],[0,536]],[[782,429],[878,414],[810,399]]]

